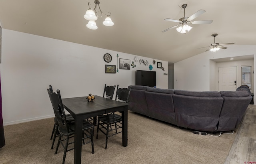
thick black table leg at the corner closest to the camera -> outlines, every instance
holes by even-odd
[[[81,164],[81,154],[82,154],[82,123],[83,123],[83,117],[77,116],[76,119],[75,119],[74,164]]]

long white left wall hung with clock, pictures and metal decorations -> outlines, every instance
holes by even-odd
[[[103,55],[110,53],[106,63]],[[105,64],[117,65],[117,57],[134,61],[132,54],[101,49],[67,41],[2,29],[2,109],[4,124],[53,117],[46,88],[60,89],[62,98],[103,95],[104,84],[120,87],[135,85],[135,71],[149,70],[140,65],[119,73],[105,73]],[[165,71],[149,61],[156,71],[156,87],[168,88],[168,62],[162,62]],[[119,59],[118,58],[118,59]],[[119,66],[119,64],[118,64]]]

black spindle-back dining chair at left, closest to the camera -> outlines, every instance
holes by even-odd
[[[54,109],[55,117],[58,121],[58,132],[60,133],[58,138],[58,144],[56,146],[55,154],[58,152],[58,148],[60,144],[64,148],[64,155],[62,164],[65,163],[66,159],[66,152],[73,150],[74,147],[69,148],[68,146],[70,144],[73,144],[74,141],[69,142],[69,139],[74,137],[75,134],[75,124],[74,122],[68,122],[66,119],[64,107],[62,104],[62,99],[60,96],[60,90],[57,90],[57,94],[55,92],[51,93],[48,91],[50,101],[52,102],[52,107]],[[90,124],[88,121],[83,121],[82,124],[82,145],[91,143],[92,144],[92,153],[94,153],[94,143],[93,143],[93,125]],[[85,142],[86,139],[90,139],[87,142]]]

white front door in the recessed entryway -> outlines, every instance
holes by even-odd
[[[236,91],[236,66],[218,69],[218,91]]]

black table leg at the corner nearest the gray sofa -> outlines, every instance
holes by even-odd
[[[127,146],[128,140],[128,106],[124,106],[124,111],[122,111],[122,139],[123,146]]]

